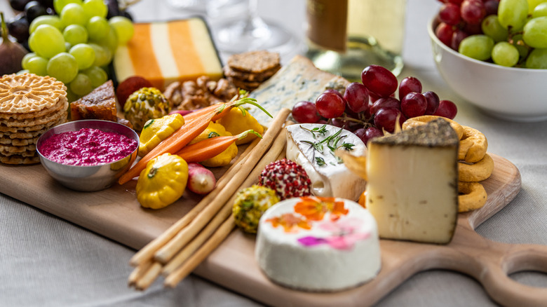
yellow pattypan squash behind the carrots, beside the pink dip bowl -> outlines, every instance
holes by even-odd
[[[140,133],[139,156],[146,156],[182,125],[184,125],[184,117],[180,114],[170,114],[147,121]]]

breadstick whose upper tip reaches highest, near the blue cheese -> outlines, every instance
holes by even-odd
[[[233,195],[238,187],[243,183],[243,180],[249,175],[252,168],[255,167],[264,152],[269,148],[274,137],[278,135],[279,130],[283,127],[283,123],[290,114],[290,109],[281,109],[277,114],[274,121],[272,121],[270,128],[266,130],[264,136],[258,142],[255,149],[250,153],[250,156],[245,161],[245,164],[241,166],[240,170],[234,177],[232,177],[227,186],[218,193],[218,195],[207,205],[199,214],[188,224],[187,227],[179,231],[172,240],[169,240],[166,245],[163,245],[155,254],[154,259],[166,264],[172,259],[175,254],[184,245],[196,236],[201,229],[217,214],[222,205],[226,203],[227,198]]]

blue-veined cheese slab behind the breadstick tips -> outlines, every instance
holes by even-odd
[[[349,81],[321,71],[302,55],[292,58],[274,76],[262,83],[249,95],[264,107],[272,116],[283,108],[292,109],[299,101],[315,102],[317,97],[328,88],[344,90]],[[250,114],[266,127],[271,118],[257,108],[251,108]]]

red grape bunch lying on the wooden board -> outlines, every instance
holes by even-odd
[[[439,100],[433,92],[422,93],[421,82],[413,76],[398,83],[388,69],[370,65],[361,73],[361,81],[350,83],[343,94],[328,89],[315,103],[297,102],[292,117],[298,123],[328,123],[350,130],[367,144],[384,131],[392,133],[397,118],[402,125],[407,118],[436,115],[452,119],[457,114],[454,102]]]

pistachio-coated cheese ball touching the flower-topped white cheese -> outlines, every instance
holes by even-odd
[[[266,186],[253,185],[238,191],[232,208],[236,225],[246,233],[257,233],[260,217],[276,203],[276,191]]]

